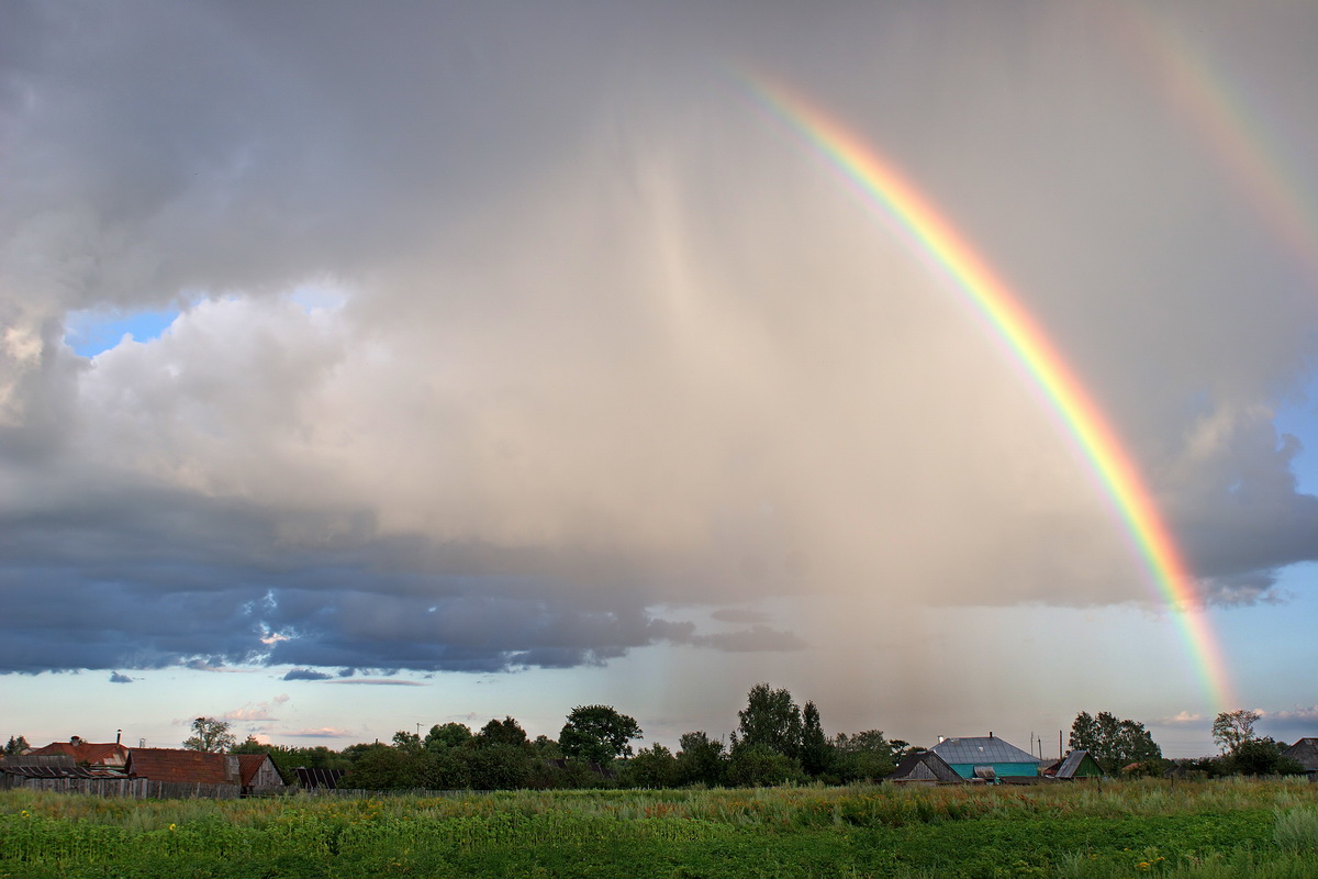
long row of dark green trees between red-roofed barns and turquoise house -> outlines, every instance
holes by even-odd
[[[890,741],[882,730],[829,737],[815,702],[797,705],[787,689],[768,684],[751,687],[737,720],[728,742],[696,730],[679,738],[676,751],[660,743],[635,749],[641,725],[609,705],[573,708],[558,739],[531,739],[517,720],[505,717],[480,730],[456,722],[436,723],[424,735],[401,730],[389,743],[343,751],[254,738],[229,750],[269,754],[286,778],[299,766],[345,770],[341,787],[373,791],[846,784],[880,779],[902,756],[924,750]],[[192,738],[214,743],[207,723],[215,721],[198,718]]]

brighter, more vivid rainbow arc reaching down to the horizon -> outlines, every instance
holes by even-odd
[[[778,117],[861,188],[867,203],[880,208],[919,256],[965,294],[1037,382],[1093,465],[1168,602],[1209,702],[1214,710],[1228,706],[1228,677],[1194,589],[1194,577],[1130,455],[1048,336],[957,229],[879,153],[788,90],[768,86],[763,78],[747,82]]]

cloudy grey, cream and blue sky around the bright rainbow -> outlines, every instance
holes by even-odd
[[[673,743],[760,680],[917,743],[1318,734],[1318,7],[3,16],[0,734],[608,702]],[[762,78],[1037,320],[1232,704],[1027,370]]]

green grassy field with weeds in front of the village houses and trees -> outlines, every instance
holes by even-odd
[[[1318,785],[0,793],[0,876],[1318,876]]]

